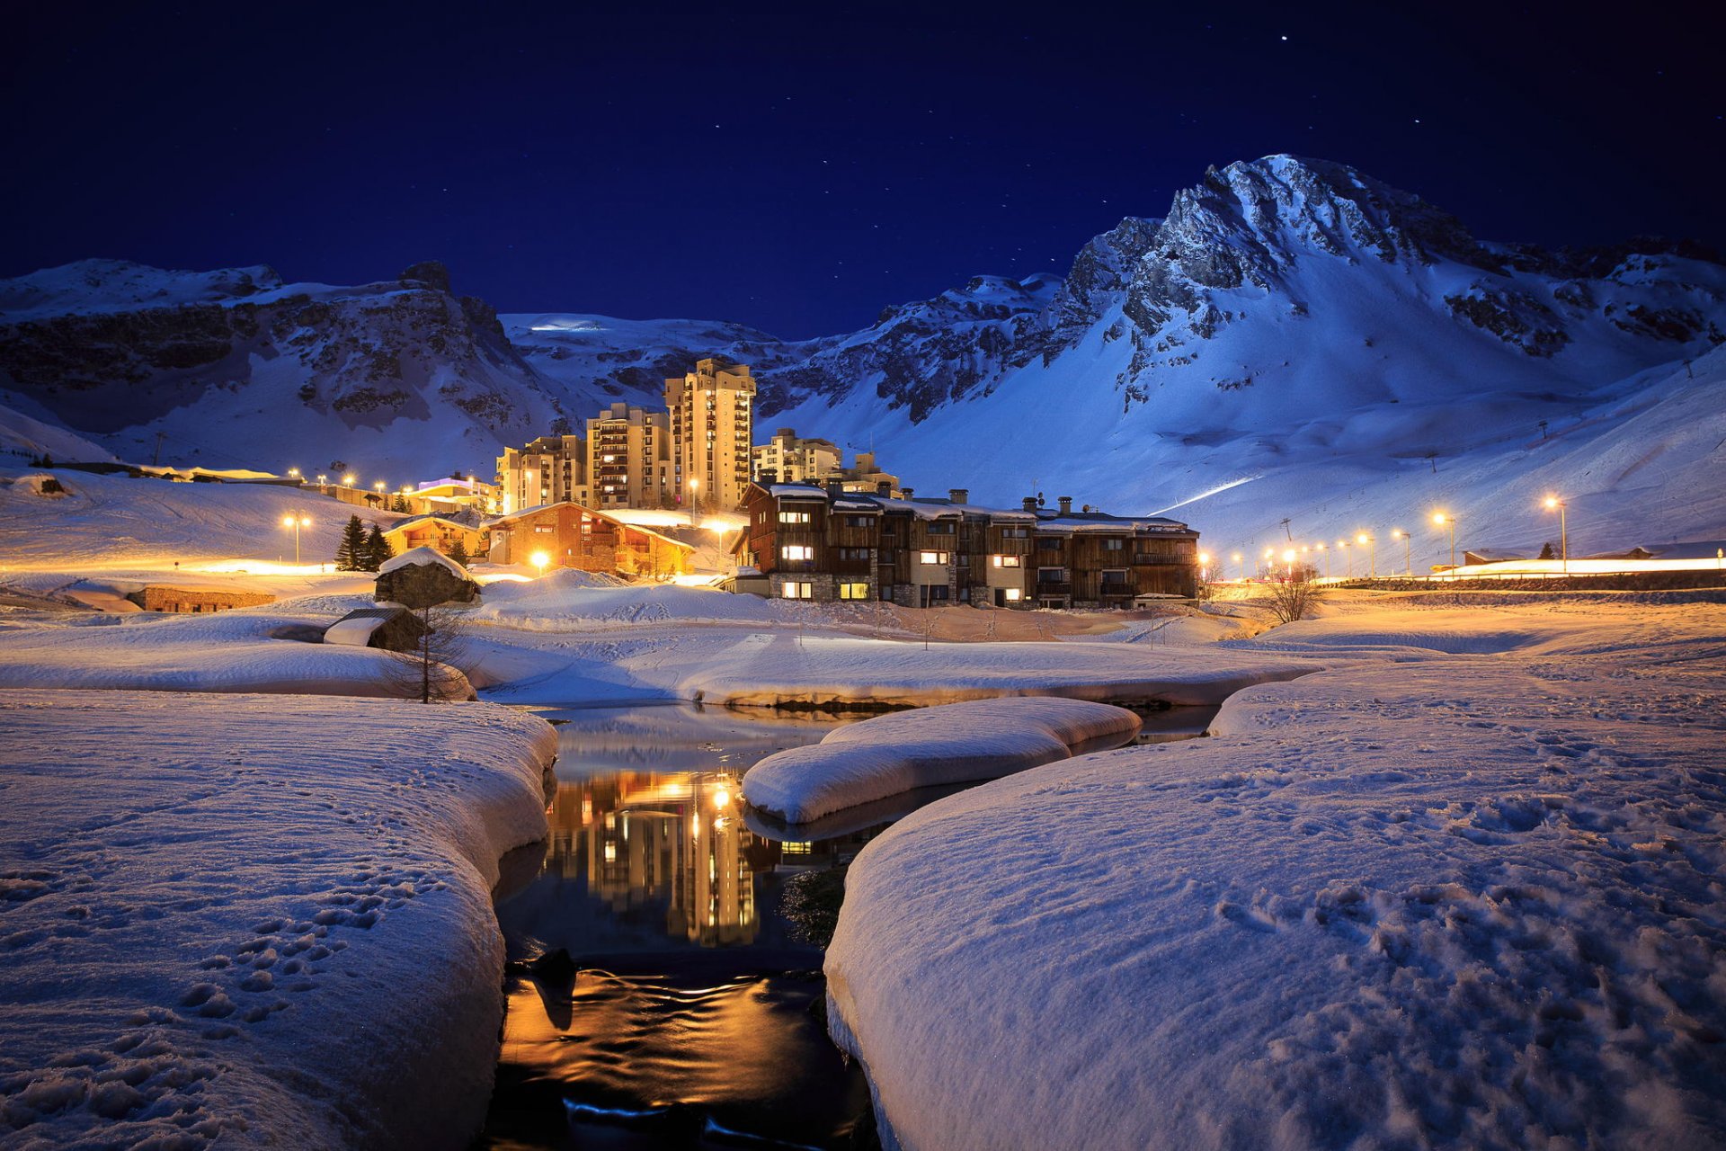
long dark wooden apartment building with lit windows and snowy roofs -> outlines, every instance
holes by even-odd
[[[737,552],[784,599],[906,607],[1131,607],[1198,594],[1198,531],[1156,516],[977,507],[756,483]]]

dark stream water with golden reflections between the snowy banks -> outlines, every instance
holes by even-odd
[[[539,711],[559,723],[551,839],[504,859],[509,1004],[475,1146],[872,1146],[868,1085],[827,1039],[822,947],[784,896],[954,789],[787,840],[744,816],[742,773],[842,720]],[[1212,714],[1156,713],[1141,739],[1198,735]]]

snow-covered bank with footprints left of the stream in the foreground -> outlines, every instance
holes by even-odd
[[[0,694],[0,1144],[466,1146],[542,720]]]

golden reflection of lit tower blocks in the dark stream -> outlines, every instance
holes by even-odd
[[[618,771],[561,783],[547,870],[587,877],[614,913],[665,906],[665,928],[702,947],[747,944],[759,930],[756,837],[737,816],[740,782],[723,771]]]

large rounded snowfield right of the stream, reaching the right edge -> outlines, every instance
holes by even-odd
[[[828,1018],[889,1146],[1719,1146],[1726,606],[1272,642],[1362,657],[858,856]]]

